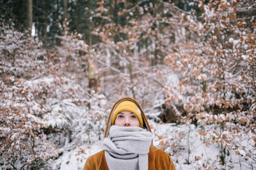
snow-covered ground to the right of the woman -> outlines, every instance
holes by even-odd
[[[216,161],[220,160],[217,159],[220,155],[219,146],[216,144],[206,146],[198,134],[199,127],[193,124],[157,124],[151,120],[149,122],[155,135],[154,146],[162,148],[171,155],[176,169],[199,169],[203,164],[205,169],[251,169],[246,162],[239,162],[239,157],[232,151],[230,155],[226,155],[227,164],[221,166]],[[157,136],[160,136],[160,139]],[[164,143],[166,141],[168,143]]]

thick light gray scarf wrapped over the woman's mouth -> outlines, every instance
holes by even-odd
[[[141,127],[112,125],[103,141],[109,170],[147,170],[152,134]]]

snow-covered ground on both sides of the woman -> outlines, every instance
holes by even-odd
[[[205,169],[250,169],[246,167],[246,162],[239,162],[234,152],[230,152],[226,158],[227,165],[220,166],[216,161],[220,148],[217,145],[205,146],[195,125],[158,124],[152,120],[148,122],[154,133],[154,146],[171,155],[177,170],[199,169],[198,167],[202,166],[205,166]],[[95,142],[91,145],[86,144],[63,152],[63,155],[53,162],[52,169],[83,169],[86,159],[102,150],[102,141],[92,141]]]

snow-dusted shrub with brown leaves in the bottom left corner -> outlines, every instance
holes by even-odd
[[[6,82],[13,83],[8,87]],[[9,77],[1,79],[1,166],[12,169],[44,167],[45,161],[56,157],[55,146],[47,141],[44,108],[36,103],[24,81]]]

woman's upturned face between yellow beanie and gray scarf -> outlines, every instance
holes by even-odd
[[[116,115],[115,125],[140,127],[140,122],[131,111],[121,111]]]

